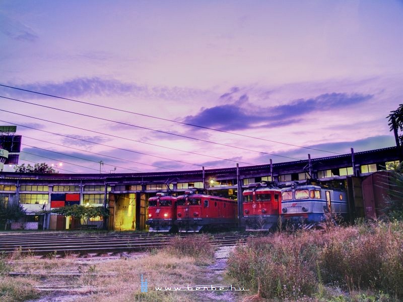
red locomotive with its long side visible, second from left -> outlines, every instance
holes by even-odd
[[[177,197],[176,221],[180,232],[229,228],[237,225],[235,200],[205,195],[203,190],[191,188]]]

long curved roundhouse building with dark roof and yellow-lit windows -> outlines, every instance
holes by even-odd
[[[222,169],[179,172],[111,173],[111,174],[37,174],[0,172],[0,198],[21,203],[27,218],[13,228],[70,229],[80,221],[49,213],[65,205],[104,206],[110,216],[105,221],[90,222],[111,230],[144,230],[147,199],[157,192],[183,194],[189,187],[205,188],[209,194],[242,200],[242,191],[251,183],[263,180],[287,183],[317,178],[321,183],[348,191],[352,217],[375,217],[382,194],[377,179],[401,161],[397,147],[352,152],[349,154],[306,160]],[[378,178],[377,178],[378,177]],[[242,202],[238,209],[242,215]],[[44,211],[47,211],[44,213]]]

